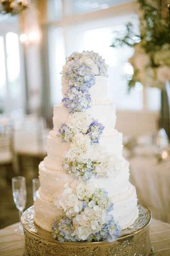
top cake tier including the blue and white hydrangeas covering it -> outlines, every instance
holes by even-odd
[[[73,53],[62,70],[62,102],[70,112],[85,112],[94,101],[108,100],[107,69],[95,52]]]

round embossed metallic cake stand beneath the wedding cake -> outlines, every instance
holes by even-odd
[[[138,205],[139,217],[131,228],[121,231],[121,236],[113,243],[84,242],[60,243],[50,232],[34,222],[34,206],[22,215],[21,222],[25,235],[23,256],[148,256],[151,252],[149,226],[151,212]]]

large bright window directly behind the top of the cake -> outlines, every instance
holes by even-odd
[[[70,2],[74,2],[74,13],[94,12],[86,13],[83,16],[75,14],[69,17],[63,16],[58,22],[58,25],[57,23],[49,25],[51,103],[58,104],[62,99],[61,75],[59,72],[61,72],[62,65],[65,63],[65,55],[69,56],[74,51],[82,52],[83,50],[94,50],[100,53],[109,65],[108,93],[109,97],[116,104],[117,109],[138,111],[159,110],[159,89],[143,88],[143,86],[138,83],[135,88],[132,88],[130,92],[128,92],[127,75],[133,72],[133,68],[128,63],[128,58],[132,56],[133,49],[127,46],[116,49],[109,47],[113,40],[113,31],[123,31],[127,22],[131,21],[138,31],[138,16],[133,14],[134,3],[133,5],[132,3],[125,3],[130,2],[125,0],[75,0]],[[105,10],[101,10],[101,5],[104,4],[104,2],[108,4],[107,15]],[[120,5],[120,10],[116,9],[114,13],[114,8],[110,6],[120,3],[124,3],[124,5],[122,5],[122,7]],[[67,8],[68,5],[69,4],[67,4]],[[85,8],[85,6],[88,8]],[[81,10],[80,7],[82,8]],[[94,7],[93,10],[92,7]],[[98,10],[100,10],[100,13],[98,11],[97,17],[95,8],[99,8]]]

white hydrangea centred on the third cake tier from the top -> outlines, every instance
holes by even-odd
[[[93,146],[90,137],[78,132],[72,138],[70,149],[64,153],[64,157],[71,161],[84,162],[90,158],[92,151]]]

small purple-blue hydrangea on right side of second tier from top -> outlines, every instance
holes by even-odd
[[[99,123],[98,120],[93,119],[93,122],[90,124],[87,130],[87,134],[90,136],[92,143],[99,143],[99,138],[103,130],[104,126]]]

